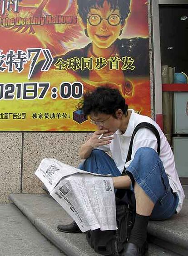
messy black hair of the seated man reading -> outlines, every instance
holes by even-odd
[[[115,112],[118,109],[121,109],[127,116],[128,105],[125,104],[125,99],[119,90],[100,86],[94,91],[84,93],[83,100],[78,104],[78,109],[82,110],[86,116],[93,112],[94,114],[113,115],[116,118]]]

